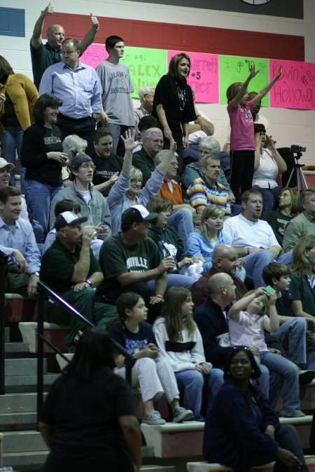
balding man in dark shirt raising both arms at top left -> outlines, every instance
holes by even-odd
[[[45,22],[45,17],[54,13],[54,7],[52,5],[46,6],[46,8],[39,15],[38,20],[35,23],[34,31],[31,36],[31,66],[33,69],[34,84],[37,89],[41,83],[41,76],[45,70],[57,64],[62,60],[61,57],[61,46],[64,41],[64,29],[60,24],[51,24],[47,29],[47,43],[43,44],[42,34]],[[80,41],[80,55],[83,54],[85,49],[93,43],[95,35],[99,29],[99,22],[97,17],[90,14],[90,20],[92,27],[87,31],[82,41]]]

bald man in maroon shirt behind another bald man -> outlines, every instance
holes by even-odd
[[[200,306],[206,301],[208,292],[207,284],[211,276],[215,273],[224,272],[232,277],[235,283],[235,299],[239,300],[246,294],[247,289],[243,282],[236,276],[237,267],[241,264],[237,259],[237,253],[232,246],[228,244],[218,244],[214,248],[214,254],[212,256],[212,267],[204,273],[191,287],[190,292],[192,293],[193,302],[195,306]]]

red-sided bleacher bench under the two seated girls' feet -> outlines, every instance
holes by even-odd
[[[300,436],[303,448],[309,448],[312,420],[312,415],[305,415],[302,418],[280,418],[280,423],[293,424]],[[154,448],[155,457],[202,456],[204,422],[169,422],[158,426],[141,424],[141,431],[146,439],[146,445]]]

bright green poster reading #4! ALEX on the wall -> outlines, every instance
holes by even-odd
[[[120,62],[123,62],[130,71],[134,86],[132,98],[137,99],[142,87],[146,85],[155,87],[160,78],[167,73],[167,50],[126,46],[124,57]]]

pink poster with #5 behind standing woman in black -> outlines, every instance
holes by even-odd
[[[171,57],[182,51],[167,51],[167,64]],[[185,51],[183,51],[185,52]],[[218,55],[204,52],[187,52],[191,69],[188,84],[199,103],[218,103]]]

